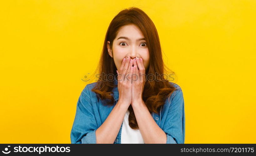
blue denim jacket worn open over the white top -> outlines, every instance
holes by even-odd
[[[113,107],[118,101],[118,87],[113,88],[114,105],[103,105],[91,89],[97,82],[85,86],[78,98],[75,119],[71,129],[71,144],[96,144],[95,131],[107,119]],[[114,84],[117,85],[117,80]],[[185,112],[183,92],[179,85],[174,85],[176,90],[171,94],[169,101],[165,100],[165,104],[161,106],[159,113],[151,113],[152,118],[158,126],[165,132],[166,144],[184,144],[185,141]],[[113,144],[121,144],[122,126]],[[154,134],[152,134],[154,135]]]

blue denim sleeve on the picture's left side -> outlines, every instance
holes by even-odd
[[[97,129],[92,103],[84,92],[81,93],[71,130],[71,144],[96,144]]]

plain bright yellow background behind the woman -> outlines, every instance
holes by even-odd
[[[157,27],[183,90],[185,143],[256,143],[255,0],[1,2],[0,143],[70,143],[82,79],[127,7]]]

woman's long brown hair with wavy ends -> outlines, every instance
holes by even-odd
[[[164,105],[165,100],[173,93],[173,90],[175,90],[175,87],[169,83],[167,79],[162,76],[159,77],[161,74],[164,74],[164,71],[167,71],[168,67],[163,63],[158,32],[148,15],[137,7],[130,7],[120,11],[109,24],[103,44],[101,58],[95,71],[96,73],[97,71],[100,73],[99,80],[97,80],[92,91],[95,92],[98,98],[102,101],[106,101],[106,105],[114,104],[114,99],[111,94],[113,94],[113,87],[117,87],[117,85],[114,85],[113,81],[103,81],[106,80],[106,74],[113,74],[117,80],[117,68],[113,58],[108,54],[107,41],[110,41],[110,48],[112,49],[113,40],[116,38],[119,28],[128,24],[135,24],[138,26],[146,39],[150,61],[145,73],[147,76],[149,74],[153,74],[155,79],[159,81],[145,81],[143,101],[147,105],[150,113],[158,113],[160,111],[160,107]],[[168,69],[168,71],[171,70]],[[171,72],[174,73],[173,71]],[[105,73],[105,75],[103,73]],[[159,75],[156,75],[155,73],[158,73]],[[139,129],[131,105],[128,110],[130,112],[128,118],[129,126],[132,129]]]

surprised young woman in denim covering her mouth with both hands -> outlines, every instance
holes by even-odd
[[[183,92],[163,79],[166,69],[147,14],[137,7],[119,12],[107,30],[99,79],[78,99],[71,143],[184,144]]]

